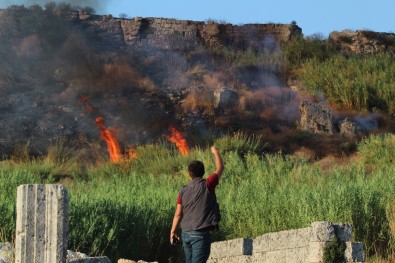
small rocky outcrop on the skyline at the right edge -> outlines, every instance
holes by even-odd
[[[355,53],[395,53],[394,33],[382,33],[367,30],[343,30],[341,32],[334,31],[329,35],[329,41],[343,50],[352,51]]]

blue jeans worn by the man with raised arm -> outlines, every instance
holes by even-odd
[[[211,234],[207,231],[181,233],[186,263],[205,263],[210,255]]]

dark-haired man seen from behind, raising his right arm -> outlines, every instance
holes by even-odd
[[[206,180],[204,165],[201,161],[192,161],[188,165],[191,181],[184,186],[177,198],[177,207],[170,231],[170,242],[180,240],[176,234],[181,222],[181,239],[187,263],[206,262],[211,249],[211,232],[220,221],[219,207],[215,188],[224,171],[224,164],[217,147],[212,146],[216,170]]]

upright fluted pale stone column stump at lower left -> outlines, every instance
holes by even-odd
[[[63,185],[18,187],[15,263],[66,262],[68,203]]]

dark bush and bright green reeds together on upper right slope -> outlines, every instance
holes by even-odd
[[[339,109],[395,114],[394,54],[340,52],[313,36],[285,47],[290,72],[312,95]]]

